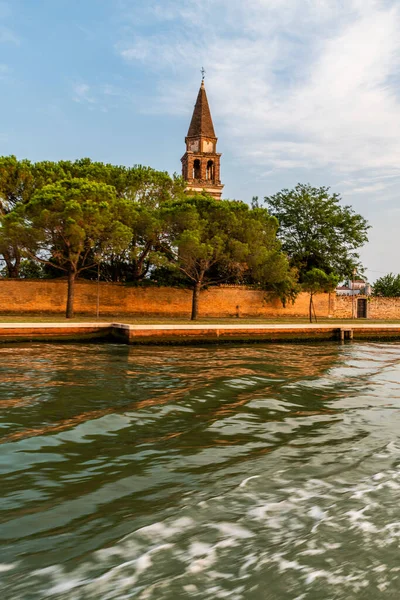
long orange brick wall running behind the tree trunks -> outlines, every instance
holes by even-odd
[[[188,317],[192,293],[179,288],[136,288],[123,284],[78,281],[75,311],[95,315],[99,291],[100,315],[148,315]],[[0,280],[0,313],[59,313],[65,311],[67,284],[63,280]],[[215,287],[200,295],[203,317],[306,317],[308,296],[300,294],[294,305],[282,307],[279,300],[266,299],[263,292],[243,287]],[[328,317],[334,297],[315,298],[317,315]]]

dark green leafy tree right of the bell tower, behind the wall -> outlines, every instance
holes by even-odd
[[[282,249],[301,281],[313,268],[341,279],[350,277],[354,268],[360,270],[357,250],[368,240],[369,225],[350,206],[340,204],[339,194],[331,194],[327,187],[298,184],[264,200],[279,221]]]

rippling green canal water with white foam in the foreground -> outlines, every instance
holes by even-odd
[[[0,346],[2,600],[400,595],[400,344]]]

